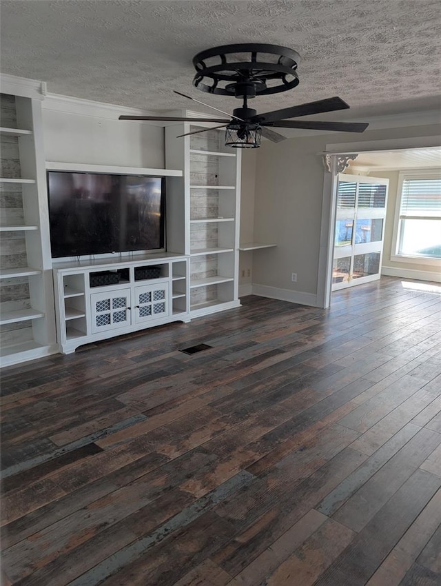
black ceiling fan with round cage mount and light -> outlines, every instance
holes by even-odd
[[[295,88],[299,83],[296,72],[299,54],[287,47],[262,43],[240,43],[225,45],[202,51],[193,58],[196,75],[193,85],[209,94],[234,96],[243,100],[242,108],[235,108],[233,114],[214,108],[200,100],[176,92],[189,100],[212,108],[228,118],[185,118],[163,116],[120,116],[120,120],[151,120],[164,122],[212,122],[220,123],[214,128],[225,128],[225,145],[235,148],[257,148],[260,136],[275,143],[286,139],[272,128],[304,128],[308,130],[334,130],[337,132],[363,132],[368,124],[360,122],[298,121],[287,120],[310,114],[334,112],[349,108],[339,97],[294,105],[290,108],[258,114],[248,107],[248,100],[259,95],[275,94]],[[212,127],[213,128],[213,127]],[[179,134],[206,132],[203,128]]]

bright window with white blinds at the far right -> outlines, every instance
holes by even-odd
[[[440,260],[441,173],[400,172],[396,212],[398,257]]]

